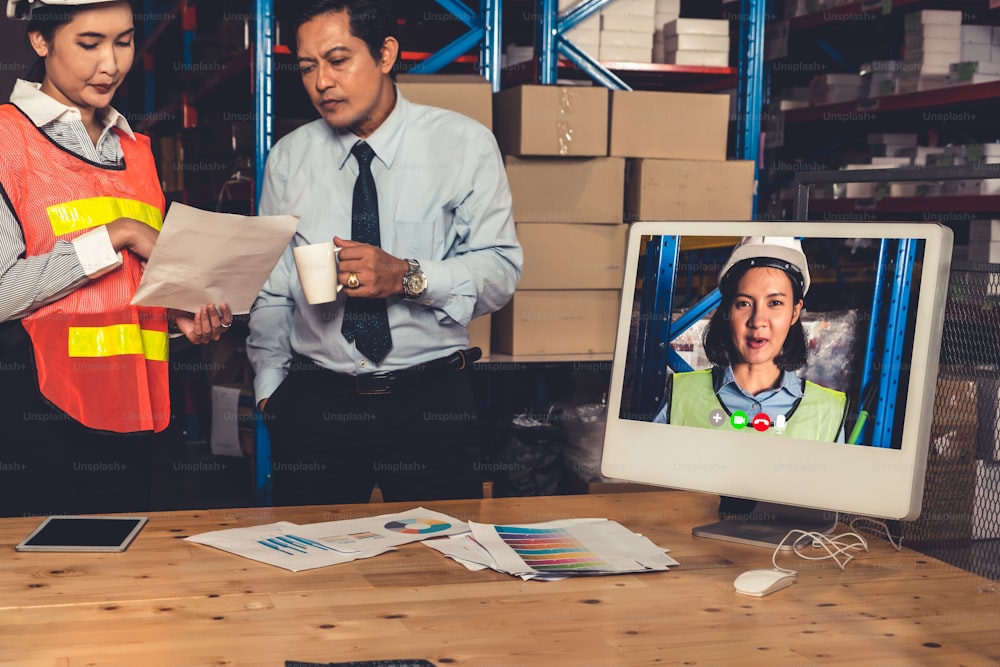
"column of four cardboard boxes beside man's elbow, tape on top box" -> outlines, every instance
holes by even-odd
[[[494,352],[607,353],[624,272],[625,160],[608,155],[608,90],[520,86],[494,98],[524,273]]]

